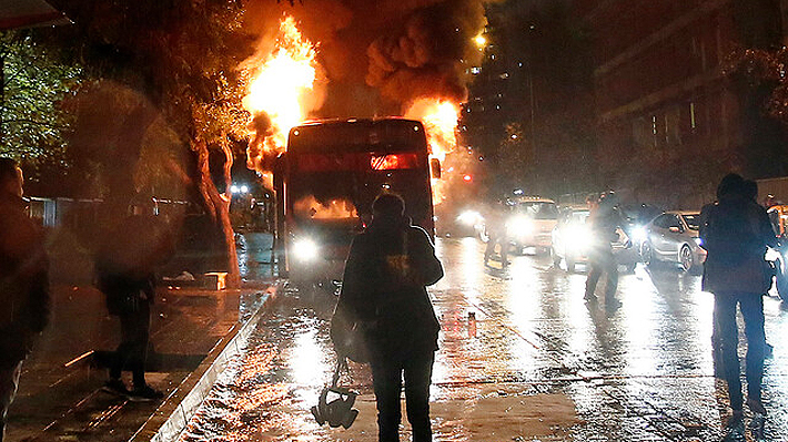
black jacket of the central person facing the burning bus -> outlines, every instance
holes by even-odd
[[[426,286],[442,277],[424,229],[373,223],[353,240],[337,311],[364,323],[373,357],[434,351],[441,326]]]

